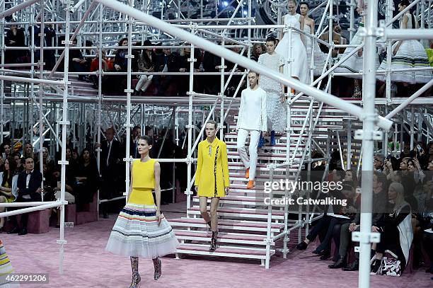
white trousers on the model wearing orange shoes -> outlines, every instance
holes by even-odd
[[[250,146],[248,149],[248,152],[250,153],[249,158],[245,146],[248,134],[250,134]],[[258,130],[238,130],[238,142],[236,143],[236,148],[238,149],[239,156],[241,156],[243,166],[245,166],[245,168],[250,168],[250,178],[248,180],[254,180],[255,178],[255,169],[257,167],[257,146],[259,139],[260,131]]]

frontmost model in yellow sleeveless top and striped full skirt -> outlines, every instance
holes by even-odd
[[[117,217],[105,250],[131,258],[132,281],[129,288],[139,286],[139,257],[154,262],[154,280],[161,277],[159,257],[176,252],[179,241],[161,213],[161,166],[149,157],[153,140],[140,137],[140,159],[131,163],[131,185],[127,205]],[[152,190],[155,190],[156,205]]]

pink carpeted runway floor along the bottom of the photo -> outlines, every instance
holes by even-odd
[[[179,207],[178,205],[174,208]],[[183,206],[184,207],[184,206]],[[173,211],[173,207],[164,211]],[[165,213],[167,217],[181,214]],[[128,287],[131,277],[129,259],[105,252],[116,215],[110,219],[65,229],[64,275],[59,275],[59,229],[46,234],[25,236],[0,234],[11,263],[19,273],[48,273],[50,284],[25,284],[22,287]],[[275,256],[265,270],[260,261],[188,256],[181,260],[163,258],[163,275],[155,282],[151,260],[139,263],[142,287],[357,287],[358,273],[328,269],[328,261],[317,260],[311,249],[294,250],[288,259]],[[371,278],[371,287],[433,287],[432,275],[417,270],[402,277]]]

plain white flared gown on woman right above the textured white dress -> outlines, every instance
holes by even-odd
[[[284,24],[291,27],[301,29],[301,23],[299,23],[299,18],[301,15],[289,15],[284,16]],[[284,36],[281,41],[279,41],[275,52],[280,54],[286,60],[284,65],[284,74],[291,77],[297,77],[299,81],[303,83],[310,83],[310,77],[308,75],[307,69],[307,58],[306,49],[304,43],[301,40],[301,35],[298,32],[292,30],[291,32],[291,42],[289,31],[284,31]],[[289,59],[292,62],[289,62]],[[290,67],[291,65],[291,67]]]

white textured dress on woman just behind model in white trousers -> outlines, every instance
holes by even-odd
[[[284,58],[276,52],[274,54],[265,53],[260,55],[258,64],[267,69],[279,71],[279,67],[284,65]],[[281,103],[283,93],[281,84],[261,75],[259,86],[266,92],[267,131],[284,132],[284,128],[287,127],[287,105]]]

